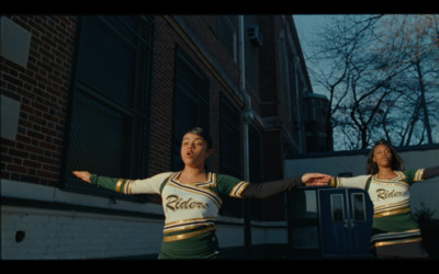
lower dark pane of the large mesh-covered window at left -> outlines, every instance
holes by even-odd
[[[70,128],[70,170],[123,175],[128,125],[121,113],[78,94]]]

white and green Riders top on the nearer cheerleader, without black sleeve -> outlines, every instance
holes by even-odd
[[[143,180],[92,174],[91,183],[123,194],[159,194],[165,214],[164,242],[183,240],[215,230],[223,198],[241,198],[248,182],[207,172],[206,181],[183,183],[180,172],[165,172]]]

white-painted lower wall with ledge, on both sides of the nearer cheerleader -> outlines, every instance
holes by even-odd
[[[1,195],[90,208],[162,214],[157,204],[126,201],[114,204],[103,197],[9,180],[2,180]],[[218,221],[240,224],[217,225],[219,248],[244,246],[244,219],[219,216]],[[155,258],[160,251],[162,227],[162,219],[2,205],[1,260],[105,259],[148,254]],[[15,241],[18,231],[25,232],[21,242]],[[270,228],[269,222],[258,224],[251,233],[254,244],[286,242],[286,233],[279,233],[279,229]]]

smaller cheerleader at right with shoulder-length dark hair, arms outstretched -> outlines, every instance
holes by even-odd
[[[417,222],[410,212],[410,185],[439,175],[439,167],[404,170],[389,141],[370,150],[368,175],[333,178],[329,186],[361,189],[373,204],[371,249],[378,259],[427,258]]]

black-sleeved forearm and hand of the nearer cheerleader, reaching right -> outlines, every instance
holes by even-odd
[[[267,198],[285,191],[292,191],[302,185],[326,185],[330,179],[330,175],[322,173],[305,173],[302,176],[294,176],[285,180],[260,184],[249,183],[243,191],[241,196],[246,198]]]

